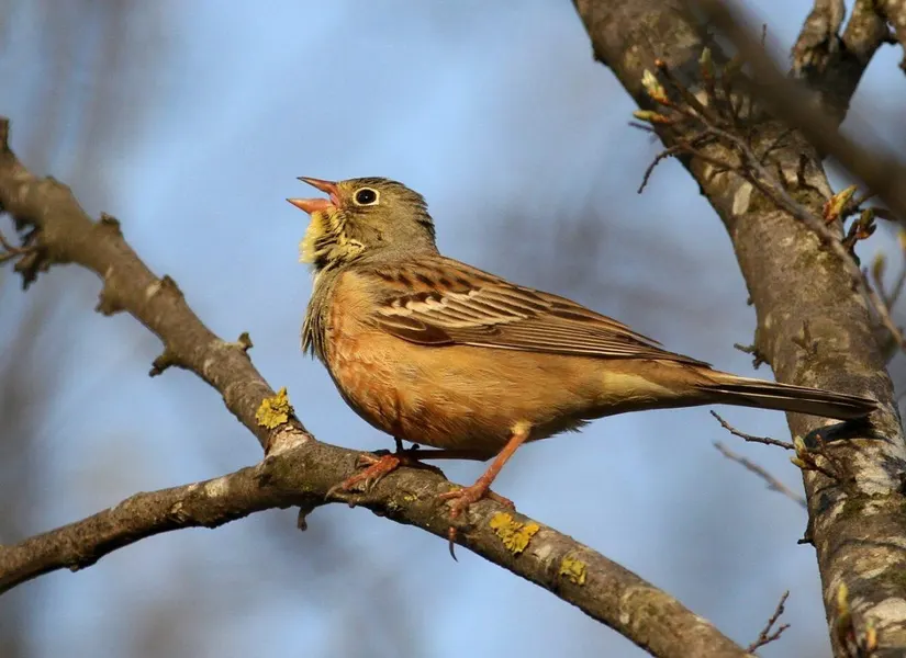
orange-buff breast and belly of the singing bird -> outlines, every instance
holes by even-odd
[[[434,447],[490,456],[517,422],[533,426],[530,440],[577,429],[599,386],[585,359],[415,345],[378,332],[335,338],[326,363],[347,404],[378,429]]]

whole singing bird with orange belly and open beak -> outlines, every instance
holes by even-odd
[[[835,419],[869,415],[864,397],[713,370],[564,297],[441,256],[424,197],[383,178],[300,178],[327,198],[289,198],[311,215],[301,260],[314,270],[303,350],[331,373],[395,454],[340,483],[376,481],[411,452],[494,461],[443,494],[456,518],[490,492],[527,441],[604,416],[738,405]]]

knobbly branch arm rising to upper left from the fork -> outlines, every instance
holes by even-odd
[[[120,223],[109,215],[93,222],[69,188],[32,174],[8,144],[9,122],[0,117],[0,209],[20,229],[32,228],[30,246],[40,260],[22,271],[27,286],[40,270],[55,263],[77,263],[103,280],[97,309],[104,315],[127,310],[164,342],[154,374],[169,365],[192,371],[223,395],[226,408],[265,446],[266,428],[255,411],[273,390],[251,365],[242,342],[217,338],[189,308],[169,276],[156,276],[123,239]],[[301,423],[295,429],[304,434]]]

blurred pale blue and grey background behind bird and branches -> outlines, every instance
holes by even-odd
[[[784,53],[810,4],[748,8]],[[883,48],[858,92],[853,113],[874,126],[902,117],[899,57]],[[627,126],[634,105],[567,0],[0,0],[0,81],[25,163],[119,217],[215,332],[249,331],[258,368],[325,441],[392,443],[300,354],[306,216],[284,198],[305,192],[303,174],[401,180],[427,197],[447,254],[752,373],[732,348],[751,342],[754,314],[730,242],[675,162],[636,194],[659,145]],[[11,236],[8,218],[0,229]],[[861,254],[880,250],[901,266],[884,226]],[[260,458],[193,375],[147,376],[157,339],[92,313],[93,275],[57,268],[20,287],[0,270],[0,543]],[[781,413],[724,411],[788,435]],[[743,645],[790,589],[793,626],[763,655],[826,655],[814,552],[796,545],[805,512],[714,441],[801,488],[787,455],[700,408],[530,445],[496,490]],[[483,468],[444,467],[460,483]],[[261,513],[19,587],[0,598],[0,657],[641,655],[537,587],[459,560],[365,510],[323,508],[304,533],[292,510]]]

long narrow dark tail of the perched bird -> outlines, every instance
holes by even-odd
[[[728,373],[709,372],[708,375],[713,384],[704,388],[714,395],[713,401],[716,404],[778,409],[840,420],[862,418],[877,408],[877,402],[873,399],[843,393],[751,379]]]

